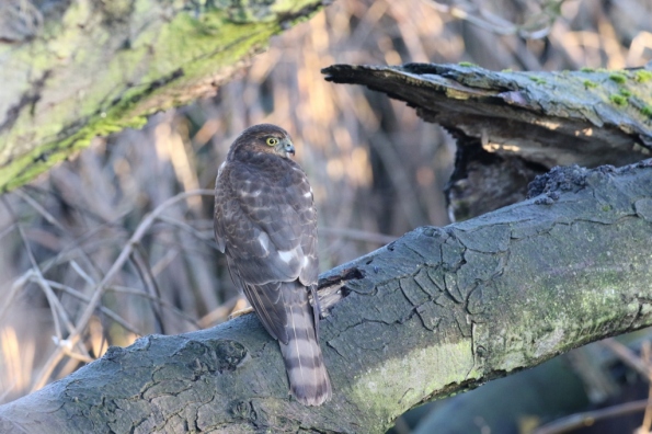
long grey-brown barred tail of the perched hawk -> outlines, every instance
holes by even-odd
[[[290,391],[305,406],[321,406],[332,396],[331,381],[314,333],[308,292],[298,282],[282,284],[288,341],[281,345]],[[317,319],[319,320],[319,319]]]

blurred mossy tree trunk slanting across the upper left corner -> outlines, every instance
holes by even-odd
[[[0,192],[98,135],[215,92],[328,0],[37,3],[0,2]]]

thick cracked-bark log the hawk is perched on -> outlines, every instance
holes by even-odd
[[[321,276],[328,404],[288,398],[278,345],[248,315],[112,347],[0,407],[0,431],[382,433],[420,403],[651,326],[652,160],[557,168],[530,195]]]

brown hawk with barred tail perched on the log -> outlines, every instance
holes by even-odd
[[[332,387],[318,340],[317,209],[294,155],[285,129],[244,129],[218,170],[214,229],[233,284],[278,341],[290,393],[321,406]]]

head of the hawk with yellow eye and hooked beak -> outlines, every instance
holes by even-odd
[[[295,155],[295,146],[285,129],[272,124],[260,124],[247,128],[238,136],[227,158],[249,152],[275,153],[289,158]]]

